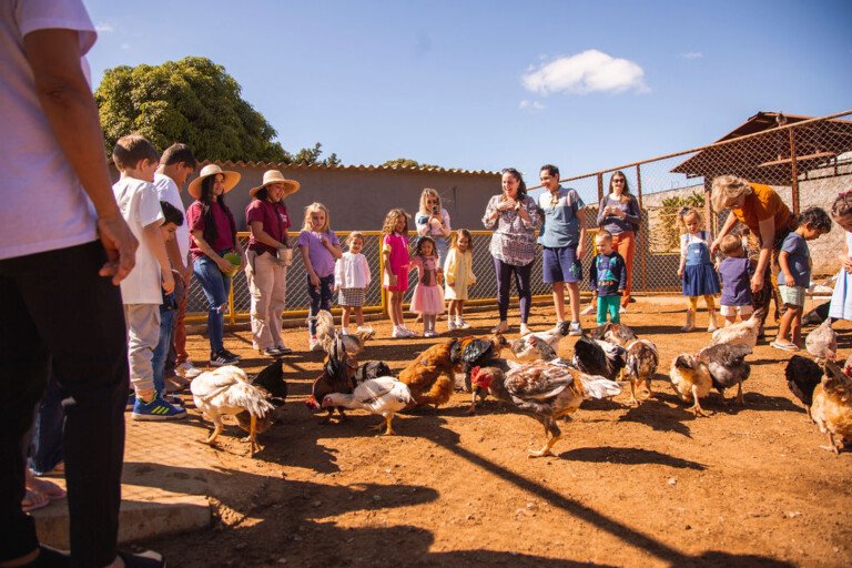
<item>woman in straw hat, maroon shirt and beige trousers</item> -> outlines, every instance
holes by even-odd
[[[291,223],[284,197],[298,187],[298,182],[286,180],[278,170],[268,170],[263,174],[263,183],[248,191],[254,201],[245,209],[245,222],[252,232],[245,254],[245,275],[252,294],[252,343],[272,357],[292,352],[281,338],[287,266],[293,257],[287,243]]]

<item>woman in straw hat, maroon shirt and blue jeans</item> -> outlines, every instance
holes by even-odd
[[[214,367],[233,365],[240,356],[225,349],[225,311],[231,291],[231,274],[234,265],[225,258],[236,253],[245,264],[245,256],[236,239],[234,215],[227,209],[224,194],[240,182],[236,172],[223,171],[216,164],[205,165],[199,178],[190,183],[187,191],[195,202],[186,210],[186,220],[192,239],[190,255],[195,277],[199,278],[207,298],[207,333],[210,334],[210,364]]]

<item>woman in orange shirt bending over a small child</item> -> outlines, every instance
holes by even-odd
[[[749,183],[736,175],[716,178],[710,201],[717,213],[726,209],[731,210],[716,241],[710,245],[711,254],[719,248],[722,237],[730,233],[737,222],[744,223],[760,242],[758,266],[751,277],[751,292],[754,310],[763,308],[762,333],[769,313],[769,302],[773,295],[780,297],[775,280],[779,271],[778,253],[792,231],[793,214],[775,190],[769,185]],[[777,305],[781,304],[777,302]]]

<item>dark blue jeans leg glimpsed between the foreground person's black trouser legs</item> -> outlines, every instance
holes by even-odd
[[[48,388],[36,410],[36,422],[32,425],[32,438],[28,453],[27,465],[36,475],[51,471],[62,462],[62,428],[65,414],[62,410],[62,390],[51,374]]]

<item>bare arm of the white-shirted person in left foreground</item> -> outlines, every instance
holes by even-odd
[[[133,270],[139,243],[112,193],[98,108],[80,68],[78,32],[33,31],[23,38],[23,51],[53,135],[94,204],[98,232],[108,257],[99,274],[112,276],[112,283],[118,284]]]

